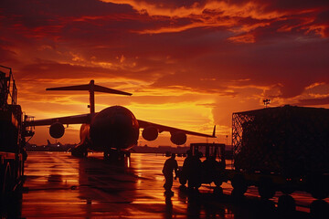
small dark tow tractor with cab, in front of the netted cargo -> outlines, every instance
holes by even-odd
[[[194,161],[202,159],[202,162],[200,162],[199,166],[197,162],[196,165],[192,164],[193,170],[189,170],[185,166],[179,167],[177,172],[179,183],[186,185],[191,175],[196,181],[192,186],[196,188],[200,187],[202,183],[215,183],[219,187],[222,182],[228,181],[225,171],[225,144],[191,143],[189,152],[190,159]],[[190,186],[190,183],[188,185]]]

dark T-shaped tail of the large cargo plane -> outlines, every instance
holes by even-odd
[[[74,85],[68,87],[58,87],[58,88],[49,88],[46,90],[88,90],[90,92],[90,113],[95,112],[95,91],[103,92],[103,93],[112,93],[112,94],[119,94],[119,95],[128,95],[131,96],[131,93],[123,92],[118,89],[108,89],[99,85],[95,85],[94,80],[90,80],[89,84],[86,85]]]

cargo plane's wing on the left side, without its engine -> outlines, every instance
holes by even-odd
[[[75,115],[75,116],[68,116],[68,117],[58,117],[58,118],[51,118],[45,120],[30,120],[26,121],[26,126],[44,126],[44,125],[51,125],[55,122],[60,122],[62,124],[82,124],[82,123],[90,123],[90,113],[82,114],[82,115]]]

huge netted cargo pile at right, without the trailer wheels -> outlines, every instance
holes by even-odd
[[[233,114],[234,164],[286,176],[329,172],[329,110],[284,106]]]

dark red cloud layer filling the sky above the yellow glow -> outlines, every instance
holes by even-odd
[[[281,98],[328,83],[326,1],[15,0],[1,12],[10,43],[0,57],[20,67],[16,78],[134,78],[223,95],[280,84]]]

